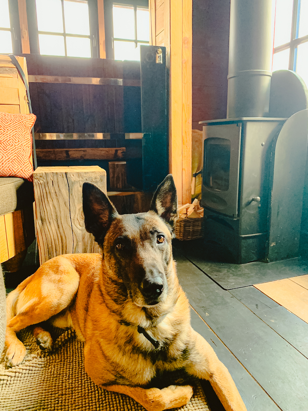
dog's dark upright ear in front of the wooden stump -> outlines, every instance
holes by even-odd
[[[106,232],[118,213],[108,197],[89,182],[83,183],[83,214],[85,229],[102,246]]]

